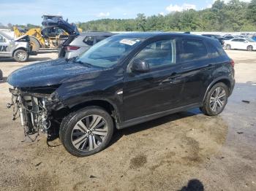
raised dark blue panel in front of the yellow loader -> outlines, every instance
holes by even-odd
[[[42,26],[45,27],[58,27],[66,31],[68,34],[74,34],[76,36],[79,35],[78,27],[74,23],[67,23],[67,21],[54,17],[52,19],[47,19],[42,21]]]

